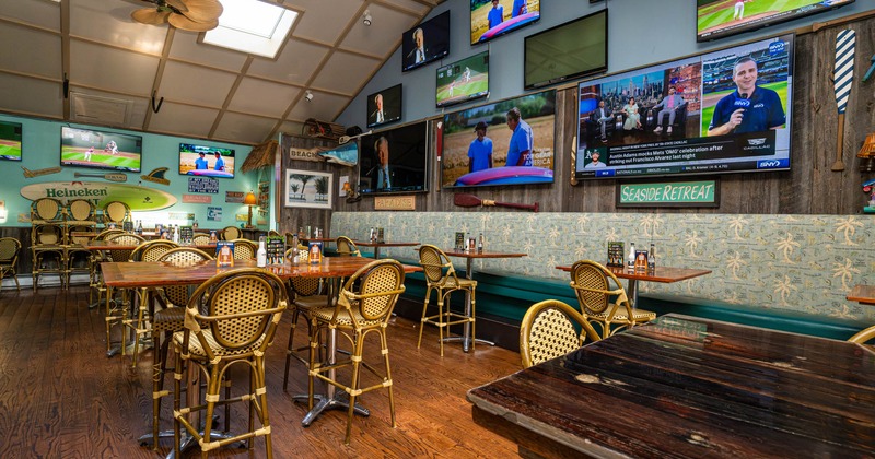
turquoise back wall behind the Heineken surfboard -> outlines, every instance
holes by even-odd
[[[31,209],[31,201],[21,196],[21,188],[38,183],[46,181],[71,181],[71,180],[88,180],[88,181],[104,181],[101,178],[75,178],[74,173],[83,174],[103,174],[115,173],[114,170],[89,169],[83,167],[62,167],[58,174],[44,175],[33,178],[25,178],[22,167],[28,169],[42,169],[47,167],[57,167],[60,164],[60,143],[61,143],[61,126],[90,128],[85,125],[72,125],[66,122],[43,120],[36,118],[24,118],[0,115],[0,120],[14,121],[22,123],[22,161],[0,161],[0,200],[5,201],[5,207],[9,216],[5,223],[0,223],[0,226],[27,226],[27,223],[20,223],[18,221],[19,214],[27,214]],[[142,132],[126,131],[122,129],[112,129],[103,127],[93,127],[94,129],[109,132],[131,133],[142,136],[143,151],[141,173],[124,173],[128,176],[128,185],[141,184],[143,187],[154,188],[158,190],[170,192],[177,198],[176,204],[152,212],[133,212],[135,219],[142,219],[147,223],[172,223],[185,224],[183,221],[170,221],[167,219],[168,212],[186,212],[194,213],[195,220],[198,221],[202,228],[222,228],[225,226],[240,226],[241,222],[235,221],[235,214],[245,214],[248,212],[245,205],[237,203],[225,203],[225,191],[243,191],[256,189],[257,173],[242,174],[240,167],[246,161],[246,156],[252,151],[252,146],[238,145],[232,143],[212,142],[198,139],[179,138],[171,136],[160,136]],[[183,203],[183,193],[188,193],[188,180],[185,176],[179,175],[179,143],[196,143],[210,146],[220,146],[234,149],[234,166],[236,169],[236,177],[233,179],[219,178],[219,193],[209,195],[212,197],[211,204],[189,204]],[[170,185],[161,185],[140,179],[140,175],[145,175],[159,167],[167,167],[164,178],[170,179]],[[221,207],[222,220],[220,222],[207,221],[207,208]],[[253,214],[253,224],[256,223],[257,213]]]

